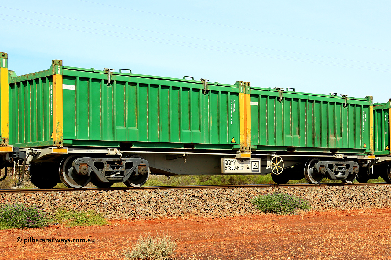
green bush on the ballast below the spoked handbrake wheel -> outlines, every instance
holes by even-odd
[[[257,210],[272,214],[292,214],[297,210],[310,210],[310,204],[298,196],[274,192],[251,199]]]

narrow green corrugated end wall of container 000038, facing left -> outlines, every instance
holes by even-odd
[[[48,71],[41,71],[10,80],[10,144],[20,148],[52,144],[52,75],[49,74]]]

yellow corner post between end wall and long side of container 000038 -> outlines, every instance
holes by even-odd
[[[53,114],[53,146],[63,146],[63,61],[52,62],[53,84],[50,96],[53,101],[51,113]]]

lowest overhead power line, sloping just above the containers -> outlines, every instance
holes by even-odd
[[[133,40],[138,40],[138,41],[147,41],[147,42],[153,42],[153,43],[163,43],[163,44],[168,44],[168,45],[185,46],[185,47],[198,48],[198,49],[204,49],[204,50],[213,50],[213,51],[218,51],[218,52],[228,52],[228,53],[251,55],[251,56],[256,56],[256,57],[265,57],[265,58],[272,58],[272,59],[282,59],[282,60],[287,60],[287,61],[299,61],[299,62],[307,62],[307,63],[313,63],[313,64],[323,64],[323,65],[337,66],[337,67],[344,67],[344,68],[355,68],[355,69],[365,69],[365,70],[372,70],[372,71],[391,72],[391,71],[387,71],[388,69],[357,68],[356,65],[349,65],[349,64],[341,64],[341,65],[348,65],[348,66],[341,66],[341,65],[335,65],[335,64],[319,63],[319,62],[322,62],[322,61],[319,61],[319,62],[300,61],[300,60],[294,60],[294,59],[300,59],[300,58],[285,59],[285,58],[278,58],[278,57],[269,57],[269,56],[256,55],[256,54],[250,54],[250,53],[231,52],[231,51],[227,51],[227,50],[215,50],[215,49],[196,47],[196,46],[179,45],[179,44],[174,44],[174,43],[164,43],[164,42],[159,42],[159,41],[137,39],[137,38],[131,38],[131,37],[118,36],[118,35],[102,34],[102,33],[98,33],[98,32],[88,32],[88,31],[75,30],[75,29],[70,29],[70,28],[55,27],[55,26],[50,26],[50,25],[41,25],[41,24],[36,24],[36,23],[27,23],[27,22],[23,22],[23,21],[14,21],[14,20],[2,19],[2,18],[0,18],[0,20],[13,21],[13,22],[17,22],[17,23],[25,23],[25,24],[31,24],[31,25],[39,25],[39,26],[51,27],[51,28],[59,28],[59,29],[63,29],[63,30],[71,30],[71,31],[76,31],[76,32],[86,32],[86,33],[90,33],[90,34],[98,34],[98,35],[111,36],[111,37],[120,37],[120,38],[133,39]],[[96,30],[96,29],[94,29],[94,30]],[[116,32],[113,32],[113,33],[116,33]],[[354,67],[352,67],[352,66],[354,66]],[[361,67],[361,66],[358,66],[358,67]]]

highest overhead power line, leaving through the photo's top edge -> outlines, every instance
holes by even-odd
[[[208,23],[208,24],[220,25],[220,26],[224,26],[224,27],[231,27],[231,28],[237,28],[237,29],[243,29],[243,30],[250,30],[250,31],[254,31],[254,32],[264,32],[264,33],[267,33],[267,34],[276,34],[276,35],[287,36],[287,37],[294,37],[294,38],[299,38],[299,39],[306,39],[306,40],[311,40],[311,41],[321,41],[321,42],[324,42],[324,43],[334,43],[334,44],[339,44],[339,45],[346,45],[346,46],[353,46],[353,47],[359,47],[359,48],[367,48],[367,49],[372,49],[372,50],[381,50],[381,51],[385,51],[385,52],[391,52],[391,50],[371,48],[371,47],[360,46],[360,45],[352,45],[352,44],[346,44],[346,43],[337,43],[337,42],[334,42],[334,41],[324,41],[324,40],[307,38],[307,37],[300,37],[300,36],[294,36],[294,35],[289,35],[289,34],[279,34],[279,33],[276,33],[276,32],[267,32],[267,31],[262,31],[262,30],[256,30],[256,29],[245,28],[245,27],[238,27],[238,26],[233,26],[233,25],[226,25],[226,24],[221,24],[221,23],[212,23],[212,22],[208,22],[208,21],[195,20],[195,19],[184,18],[184,17],[179,17],[179,16],[172,16],[172,15],[167,15],[167,14],[159,14],[159,13],[156,13],[156,12],[147,12],[147,11],[142,11],[142,10],[137,10],[137,9],[131,9],[131,8],[123,7],[123,6],[108,5],[108,4],[96,3],[96,2],[86,1],[86,0],[79,0],[79,1],[87,2],[87,3],[91,3],[91,4],[106,5],[106,6],[109,6],[109,7],[116,7],[116,8],[121,8],[121,9],[127,9],[127,10],[131,10],[131,11],[136,11],[136,12],[145,12],[145,13],[148,13],[148,14],[156,14],[156,15],[160,15],[160,16],[167,16],[167,17],[172,17],[172,18],[178,18],[178,19],[183,19],[183,20],[188,20],[188,21],[197,21],[197,22],[200,22],[200,23]]]

